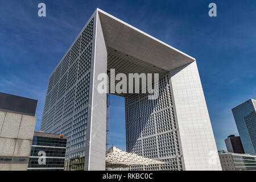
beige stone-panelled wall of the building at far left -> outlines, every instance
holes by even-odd
[[[0,110],[0,160],[1,171],[26,171],[34,136],[36,117]]]

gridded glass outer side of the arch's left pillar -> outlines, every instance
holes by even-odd
[[[67,135],[67,164],[69,159],[85,156],[93,21],[90,20],[48,81],[40,129]]]

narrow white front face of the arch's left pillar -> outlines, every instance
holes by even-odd
[[[86,140],[89,147],[85,151],[85,170],[105,170],[106,155],[106,93],[97,90],[100,73],[107,72],[108,53],[98,14],[94,16],[94,40],[92,53],[92,68],[90,77],[91,104],[89,105],[90,119]],[[86,143],[87,144],[87,143]]]

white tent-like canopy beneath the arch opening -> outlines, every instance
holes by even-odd
[[[118,149],[117,147],[111,147],[106,152],[106,167],[119,168],[129,167],[131,165],[151,165],[151,164],[165,164],[162,161],[144,158],[137,154],[128,153]]]

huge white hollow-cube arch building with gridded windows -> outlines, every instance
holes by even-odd
[[[113,69],[159,74],[159,97],[115,92]],[[127,151],[167,162],[137,169],[221,170],[196,60],[99,9],[49,76],[41,130],[68,136],[67,163],[105,170],[107,74],[110,93],[125,97]]]

